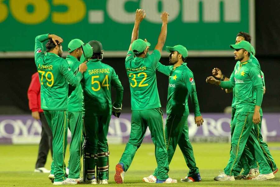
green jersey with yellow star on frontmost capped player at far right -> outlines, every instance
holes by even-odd
[[[236,112],[254,112],[255,105],[261,106],[263,97],[263,83],[260,70],[248,60],[244,63],[237,62],[229,81],[221,81],[220,86],[225,89],[235,88]],[[262,92],[256,97],[254,92]]]

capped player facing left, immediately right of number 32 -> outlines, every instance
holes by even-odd
[[[170,164],[178,144],[183,153],[186,164],[189,167],[188,176],[181,179],[181,182],[198,182],[201,181],[201,178],[198,167],[195,163],[193,147],[189,141],[188,127],[189,96],[195,108],[195,123],[197,126],[200,126],[203,123],[203,118],[199,111],[194,74],[187,67],[187,63],[185,63],[188,56],[188,50],[184,46],[166,46],[166,50],[170,52],[169,62],[173,65],[165,66],[158,62],[156,70],[169,76],[166,106],[167,117],[164,128],[168,164]],[[153,175],[144,177],[143,181],[147,183],[155,183],[156,178],[157,168]]]

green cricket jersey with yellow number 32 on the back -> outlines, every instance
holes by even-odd
[[[156,65],[160,58],[158,50],[146,58],[134,57],[133,51],[128,51],[125,69],[130,84],[131,110],[161,107],[156,84]]]

